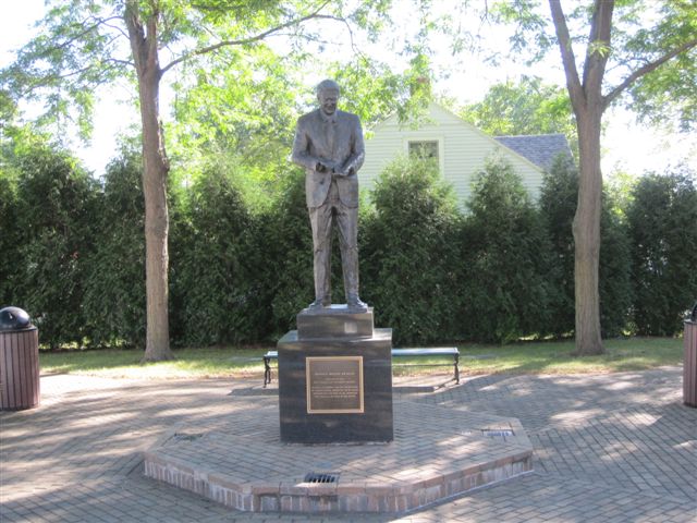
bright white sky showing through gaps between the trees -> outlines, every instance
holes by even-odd
[[[445,0],[447,1],[447,0]],[[10,64],[14,59],[14,50],[25,44],[34,34],[32,24],[45,12],[42,0],[23,0],[5,2],[3,15],[0,17],[0,68]],[[436,42],[444,47],[447,42]],[[505,45],[504,41],[502,41]],[[555,57],[542,65],[538,65],[528,74],[542,76],[549,83],[564,85],[562,71],[555,65]],[[449,53],[443,52],[435,58],[435,66],[452,61]],[[387,60],[389,62],[389,60]],[[452,65],[450,63],[449,65]],[[439,81],[435,88],[457,100],[458,104],[479,101],[488,87],[504,82],[509,77],[516,78],[524,72],[522,66],[509,64],[506,68],[492,68],[481,61],[462,61],[448,80]],[[117,136],[136,125],[138,115],[134,107],[125,100],[126,88],[117,86],[101,93],[96,105],[95,129],[89,145],[76,143],[74,150],[84,163],[97,175],[117,150]],[[169,94],[171,96],[171,93]],[[162,117],[167,119],[167,98],[164,92],[161,101]],[[121,100],[121,101],[119,101]],[[32,109],[27,108],[27,113]],[[697,169],[697,136],[671,134],[665,131],[648,127],[637,123],[633,115],[622,109],[611,109],[604,115],[607,124],[602,139],[602,171],[612,177],[615,171],[638,175],[644,171],[662,172],[669,165],[685,161]]]

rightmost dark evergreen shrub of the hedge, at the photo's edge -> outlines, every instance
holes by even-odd
[[[634,321],[641,335],[672,336],[697,297],[697,177],[686,167],[646,174],[627,210]]]

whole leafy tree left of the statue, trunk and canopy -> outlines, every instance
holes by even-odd
[[[347,11],[343,2],[297,0],[61,1],[48,11],[38,35],[20,51],[16,62],[2,71],[3,98],[46,95],[49,114],[65,114],[77,108],[77,119],[85,131],[94,87],[124,76],[135,80],[145,195],[147,340],[144,360],[172,357],[168,321],[167,180],[170,166],[159,108],[163,75],[208,53],[229,47],[247,49],[282,32],[291,33],[291,41],[297,41],[308,35],[305,23],[310,20],[369,26],[375,14],[383,13],[388,4],[359,2]]]

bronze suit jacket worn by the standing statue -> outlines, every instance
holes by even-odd
[[[327,117],[321,109],[297,120],[293,143],[293,162],[305,168],[305,196],[308,207],[319,207],[327,199],[332,173],[319,172],[320,160],[335,165],[351,175],[334,175],[339,197],[347,207],[358,207],[357,172],[365,159],[363,130],[358,117],[337,110]]]

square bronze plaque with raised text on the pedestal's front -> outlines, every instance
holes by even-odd
[[[363,356],[305,358],[308,414],[363,414]]]

